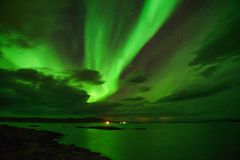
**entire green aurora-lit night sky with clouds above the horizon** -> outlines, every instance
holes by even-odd
[[[240,116],[239,0],[1,0],[0,116]]]

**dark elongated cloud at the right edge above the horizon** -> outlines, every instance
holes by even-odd
[[[225,66],[210,66],[200,72],[204,76],[204,81],[196,83],[192,86],[186,86],[180,90],[173,92],[171,95],[163,97],[157,101],[161,102],[175,102],[187,101],[198,98],[208,98],[217,95],[221,92],[229,90],[240,91],[240,74],[238,73],[240,61],[233,61],[225,63]],[[234,95],[227,95],[233,97]],[[202,100],[198,100],[200,103]],[[230,103],[230,102],[228,102]],[[211,104],[208,104],[211,105]]]

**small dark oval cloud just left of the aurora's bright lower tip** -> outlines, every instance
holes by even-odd
[[[104,83],[100,73],[90,69],[76,71],[71,78],[77,81],[88,82],[95,85],[101,85]]]

